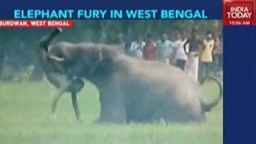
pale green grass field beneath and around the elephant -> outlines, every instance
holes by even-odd
[[[216,98],[218,86],[202,86],[205,98]],[[99,125],[98,91],[87,83],[78,94],[83,123],[74,117],[69,94],[58,103],[58,119],[50,117],[56,89],[47,82],[0,83],[1,144],[221,144],[222,102],[207,115],[206,123]]]

